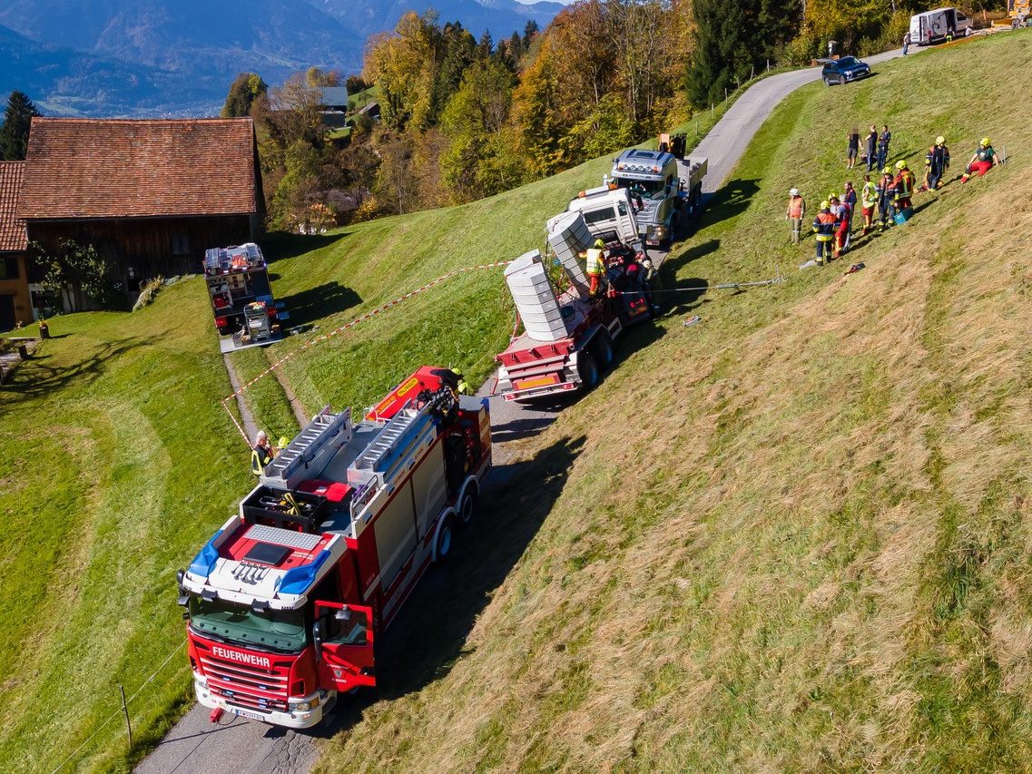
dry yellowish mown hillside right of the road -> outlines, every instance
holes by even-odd
[[[779,107],[672,265],[792,282],[636,332],[654,341],[524,442],[483,554],[460,547],[391,633],[423,651],[321,768],[1027,767],[1030,65],[1028,33],[999,36]],[[912,161],[939,132],[955,172],[986,133],[1013,161],[922,195],[860,273],[797,272],[784,192],[839,188],[870,120]]]

